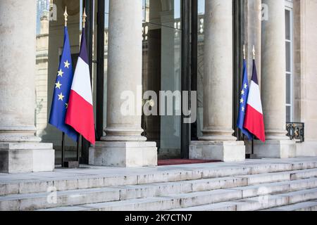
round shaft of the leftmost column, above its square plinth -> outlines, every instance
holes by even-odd
[[[0,1],[0,142],[35,136],[36,1]]]

